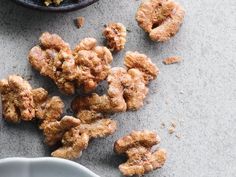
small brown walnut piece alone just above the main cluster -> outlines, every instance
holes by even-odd
[[[107,46],[111,51],[118,52],[125,47],[126,28],[122,23],[109,23],[103,30]]]

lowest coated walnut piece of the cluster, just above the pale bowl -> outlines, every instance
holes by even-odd
[[[77,115],[81,123],[67,131],[62,138],[62,147],[52,153],[54,157],[66,159],[78,158],[88,147],[91,138],[105,137],[116,130],[116,122],[104,118],[95,111],[81,111]],[[57,131],[57,130],[56,130]],[[58,135],[58,133],[57,133]],[[61,137],[61,134],[59,134]]]

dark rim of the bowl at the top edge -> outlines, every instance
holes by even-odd
[[[92,5],[93,3],[95,3],[99,0],[86,0],[86,1],[82,1],[81,3],[71,4],[68,6],[49,6],[49,7],[30,4],[30,3],[27,3],[27,2],[24,2],[21,0],[13,0],[13,1],[23,7],[27,7],[27,8],[31,8],[31,9],[35,9],[35,10],[40,10],[40,11],[69,12],[69,11],[74,11],[74,10],[85,8],[85,7]]]

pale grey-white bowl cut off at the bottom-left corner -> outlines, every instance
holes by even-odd
[[[6,158],[0,160],[0,177],[99,177],[75,162],[52,158]]]

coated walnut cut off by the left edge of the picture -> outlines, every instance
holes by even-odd
[[[35,117],[35,104],[30,84],[22,77],[11,75],[0,81],[3,117],[6,121],[18,123]]]

